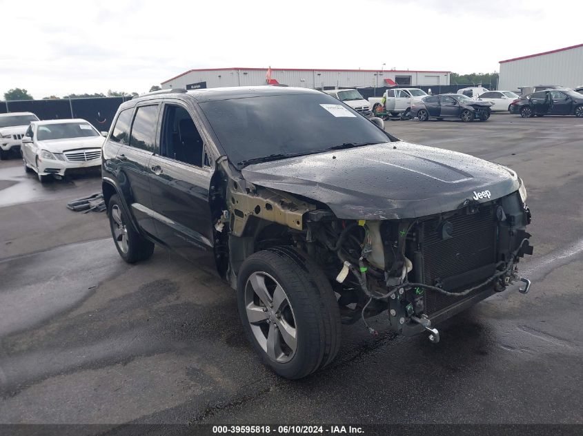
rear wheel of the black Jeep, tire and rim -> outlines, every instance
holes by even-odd
[[[119,256],[128,263],[146,260],[154,253],[154,244],[135,231],[117,194],[108,203],[111,236]]]

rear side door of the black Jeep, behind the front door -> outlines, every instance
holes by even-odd
[[[139,227],[155,234],[150,196],[150,158],[157,145],[159,103],[145,102],[120,112],[110,141],[118,142],[117,182]],[[131,122],[131,128],[130,126]],[[128,133],[129,132],[129,133]]]

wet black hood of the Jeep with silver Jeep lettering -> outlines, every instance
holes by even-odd
[[[342,219],[402,219],[453,211],[488,191],[519,187],[514,172],[467,154],[404,141],[335,150],[241,170],[248,182],[328,205]]]

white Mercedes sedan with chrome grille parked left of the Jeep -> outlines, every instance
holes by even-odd
[[[36,172],[41,182],[79,169],[99,169],[103,141],[102,134],[80,118],[33,121],[22,138],[24,168]]]

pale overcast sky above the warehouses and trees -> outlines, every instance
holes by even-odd
[[[583,43],[578,3],[0,0],[0,98],[143,93],[191,68],[493,72]]]

